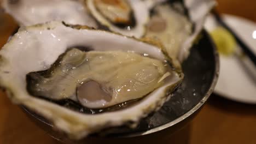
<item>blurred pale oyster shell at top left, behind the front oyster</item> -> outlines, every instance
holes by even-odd
[[[58,20],[97,28],[96,21],[78,0],[3,0],[2,6],[21,26]]]

